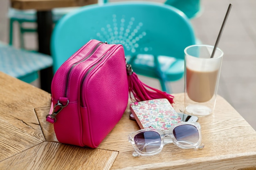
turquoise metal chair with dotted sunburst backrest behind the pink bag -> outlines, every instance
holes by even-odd
[[[91,39],[123,44],[128,63],[140,75],[167,82],[184,75],[184,49],[195,44],[189,19],[178,9],[153,2],[88,5],[65,15],[54,27],[54,72]]]

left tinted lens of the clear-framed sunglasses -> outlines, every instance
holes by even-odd
[[[157,132],[140,132],[134,137],[135,144],[142,152],[152,152],[161,146],[161,137]]]

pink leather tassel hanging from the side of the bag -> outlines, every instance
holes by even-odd
[[[129,84],[129,94],[132,101],[134,99],[137,102],[150,100],[150,99],[161,99],[165,98],[172,104],[173,95],[170,95],[166,92],[160,91],[156,88],[150,87],[143,82],[141,82],[136,73],[132,72],[128,74],[128,84]],[[132,99],[132,96],[134,99]]]

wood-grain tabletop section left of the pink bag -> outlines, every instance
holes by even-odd
[[[34,108],[49,106],[50,94],[3,73],[0,87],[1,161],[45,141]]]

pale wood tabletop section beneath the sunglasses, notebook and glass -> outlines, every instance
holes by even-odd
[[[183,94],[174,94],[175,110],[183,109]],[[49,108],[37,109],[38,117],[44,117]],[[43,115],[40,115],[43,114]],[[208,117],[199,117],[202,126],[202,143],[204,149],[181,149],[174,144],[164,146],[162,152],[150,157],[132,157],[134,151],[128,142],[128,134],[139,130],[136,121],[129,119],[127,107],[122,119],[99,145],[98,149],[119,152],[111,169],[155,169],[155,170],[248,170],[256,169],[256,132],[222,97],[218,96],[215,113]],[[40,119],[39,119],[40,121]],[[40,121],[41,122],[41,121]],[[42,125],[42,129],[50,131],[49,139],[54,138],[53,127]],[[46,126],[45,128],[43,126]],[[51,130],[52,128],[52,130]],[[53,136],[51,136],[53,135]],[[57,141],[57,139],[56,139]],[[250,142],[249,142],[250,141]],[[249,142],[250,145],[246,143]],[[254,146],[254,147],[253,147]],[[251,169],[250,169],[251,167]]]

